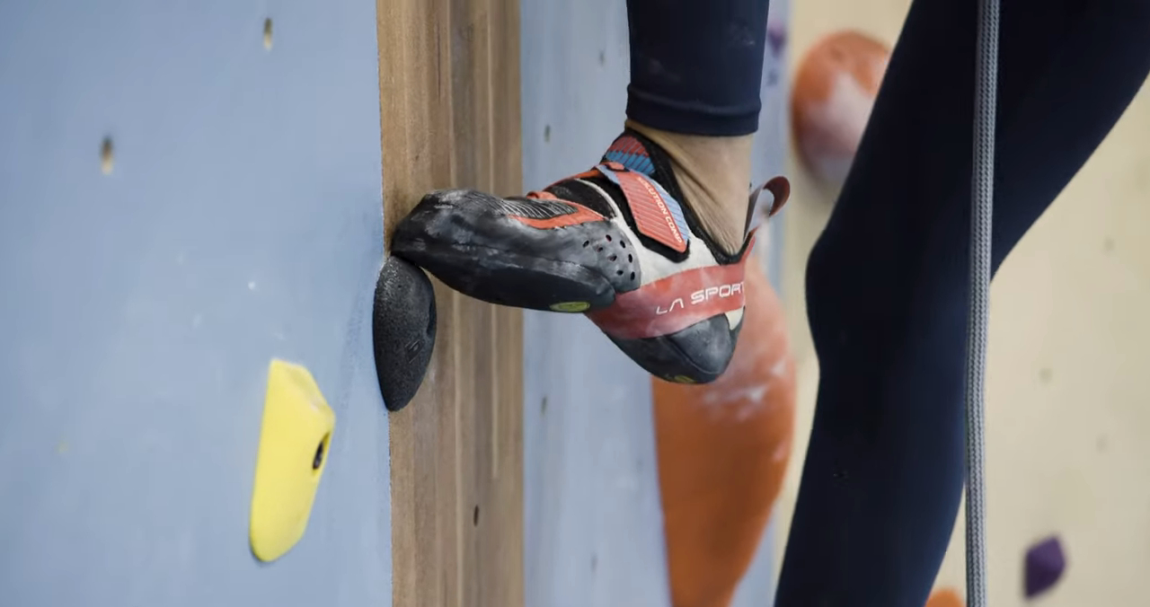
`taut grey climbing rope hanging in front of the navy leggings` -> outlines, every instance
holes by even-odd
[[[974,85],[974,176],[971,214],[971,308],[966,343],[966,605],[987,607],[983,391],[990,304],[990,220],[998,99],[999,0],[979,0]]]

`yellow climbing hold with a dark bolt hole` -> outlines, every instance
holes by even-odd
[[[248,530],[256,559],[274,561],[304,537],[335,427],[336,414],[312,374],[302,366],[273,360]]]

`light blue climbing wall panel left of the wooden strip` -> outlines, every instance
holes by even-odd
[[[375,36],[347,0],[0,5],[0,602],[390,605]],[[274,358],[335,433],[259,563]]]

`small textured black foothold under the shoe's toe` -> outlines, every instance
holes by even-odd
[[[371,338],[375,374],[388,410],[407,406],[435,349],[435,291],[423,270],[391,256],[375,284]]]

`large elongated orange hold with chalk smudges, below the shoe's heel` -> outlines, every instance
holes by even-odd
[[[752,256],[743,329],[705,385],[653,379],[674,607],[727,607],[782,486],[795,427],[795,361],[782,304]]]

